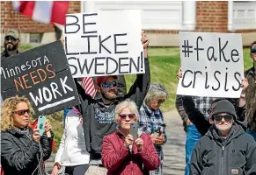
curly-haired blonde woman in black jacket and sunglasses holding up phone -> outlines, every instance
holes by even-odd
[[[4,175],[46,175],[43,161],[51,155],[52,127],[47,120],[45,132],[40,137],[38,129],[28,127],[32,116],[33,109],[26,97],[11,97],[2,104],[1,164]]]

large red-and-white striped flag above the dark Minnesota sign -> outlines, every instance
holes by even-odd
[[[69,1],[12,1],[12,7],[34,21],[65,25]]]

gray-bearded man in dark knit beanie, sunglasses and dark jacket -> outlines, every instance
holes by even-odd
[[[190,174],[256,174],[256,143],[234,122],[232,103],[216,102],[210,117],[213,125],[194,148]]]

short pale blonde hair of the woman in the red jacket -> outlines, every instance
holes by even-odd
[[[119,115],[121,113],[121,111],[123,109],[130,109],[130,112],[132,114],[135,114],[135,122],[138,121],[138,116],[139,116],[139,111],[138,111],[138,108],[135,104],[135,102],[131,101],[131,100],[126,100],[126,101],[123,101],[121,103],[119,103],[116,107],[115,107],[115,110],[114,110],[114,118],[115,118],[115,122],[117,123],[117,120],[119,118]]]

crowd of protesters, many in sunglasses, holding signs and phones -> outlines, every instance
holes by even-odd
[[[74,79],[80,104],[65,109],[52,175],[163,174],[162,145],[168,136],[160,108],[168,94],[162,84],[150,84],[149,39],[143,32],[141,40],[145,73],[136,75],[128,93],[123,75],[96,77],[94,98]],[[17,54],[19,43],[18,31],[7,31],[1,60]],[[256,174],[256,41],[250,56],[253,66],[245,71],[240,98],[177,95],[176,107],[187,132],[185,175]],[[177,78],[181,77],[179,68]],[[55,129],[46,120],[40,136],[33,116],[24,96],[2,102],[5,175],[46,174],[44,161],[55,147]],[[137,137],[131,133],[132,123],[138,123]]]

